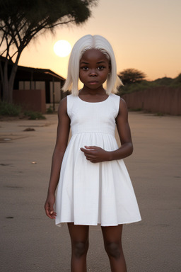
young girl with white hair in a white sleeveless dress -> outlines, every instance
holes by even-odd
[[[83,83],[80,91],[78,78]],[[89,225],[98,224],[111,271],[127,271],[122,225],[141,220],[122,160],[132,154],[133,145],[127,106],[114,94],[120,84],[110,43],[99,35],[78,40],[63,88],[71,90],[71,95],[59,105],[57,142],[45,203],[46,214],[55,219],[56,225],[68,224],[74,272],[86,271]],[[115,125],[121,147],[115,140]],[[72,136],[67,145],[70,127]]]

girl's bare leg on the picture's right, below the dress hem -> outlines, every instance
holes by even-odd
[[[122,225],[102,227],[105,251],[110,259],[112,272],[127,272],[122,251]]]

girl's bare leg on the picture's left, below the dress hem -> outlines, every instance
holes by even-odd
[[[86,272],[89,226],[68,223],[71,237],[71,272]]]

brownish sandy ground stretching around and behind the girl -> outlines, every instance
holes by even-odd
[[[129,123],[134,154],[124,161],[142,221],[124,226],[128,271],[179,272],[181,117],[129,113]],[[56,115],[0,122],[1,271],[70,271],[67,227],[43,208],[56,130]],[[100,227],[90,228],[88,271],[110,272]]]

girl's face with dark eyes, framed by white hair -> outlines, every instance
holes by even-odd
[[[100,50],[87,50],[81,57],[79,78],[89,89],[103,88],[109,72],[109,60]]]

